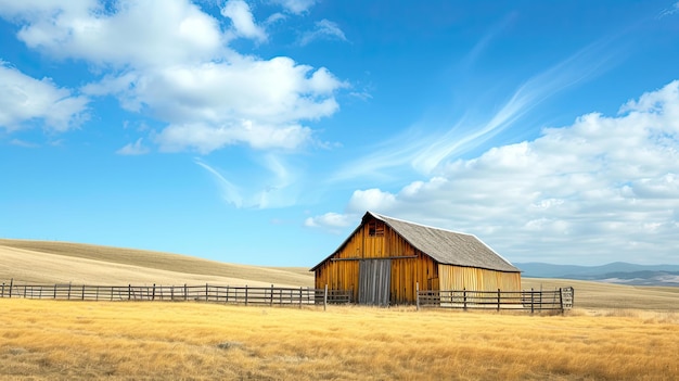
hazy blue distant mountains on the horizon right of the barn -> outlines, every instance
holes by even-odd
[[[602,266],[515,263],[527,278],[593,280],[608,283],[679,287],[679,265],[635,265],[615,262]]]

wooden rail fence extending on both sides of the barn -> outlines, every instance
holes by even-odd
[[[427,291],[419,290],[417,307],[460,309],[511,309],[536,312],[573,308],[573,288],[553,291]],[[354,292],[310,288],[232,285],[86,285],[15,284],[0,285],[0,297],[50,299],[63,301],[200,301],[222,304],[299,306],[349,304]]]

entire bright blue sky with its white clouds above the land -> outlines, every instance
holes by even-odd
[[[370,209],[679,264],[679,2],[0,0],[0,237],[313,266]]]

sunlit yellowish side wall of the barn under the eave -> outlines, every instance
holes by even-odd
[[[440,290],[521,291],[521,272],[438,265]]]

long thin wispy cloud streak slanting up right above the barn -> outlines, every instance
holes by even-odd
[[[527,79],[486,119],[472,118],[467,112],[445,130],[432,130],[426,123],[417,124],[406,132],[371,148],[373,153],[344,166],[332,179],[384,176],[385,170],[403,165],[410,165],[422,174],[432,174],[445,162],[481,147],[511,128],[550,97],[612,67],[615,54],[606,49],[606,42],[592,43]],[[490,109],[485,104],[476,107]]]

